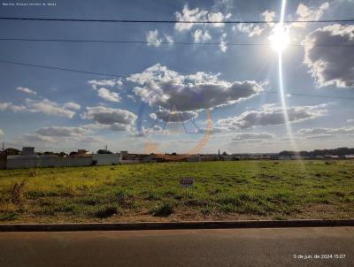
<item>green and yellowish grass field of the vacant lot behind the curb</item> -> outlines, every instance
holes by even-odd
[[[354,217],[354,161],[0,171],[0,223]],[[194,178],[183,188],[181,177]]]

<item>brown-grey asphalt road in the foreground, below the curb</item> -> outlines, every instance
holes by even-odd
[[[354,266],[354,227],[0,233],[0,266]]]

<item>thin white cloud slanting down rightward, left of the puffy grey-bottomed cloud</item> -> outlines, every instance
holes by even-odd
[[[26,99],[26,111],[34,113],[44,113],[47,115],[54,115],[58,117],[73,118],[74,111],[70,111],[65,106],[60,106],[58,103],[52,102],[48,99],[41,101]]]

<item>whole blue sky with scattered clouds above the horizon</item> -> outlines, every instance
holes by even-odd
[[[303,43],[282,51],[284,108],[278,51],[272,45],[227,44],[270,44],[269,36],[277,28],[272,20],[280,18],[281,1],[53,1],[56,5],[50,7],[4,3],[8,2],[0,6],[2,17],[269,22],[187,25],[2,20],[2,38],[152,42],[1,41],[0,60],[118,75],[0,63],[0,141],[6,146],[71,151],[102,149],[107,144],[113,151],[144,152],[154,143],[158,152],[188,153],[204,138],[208,141],[198,148],[200,152],[353,146],[353,100],[287,95],[354,96],[354,53],[345,47],[354,44],[350,24],[293,23],[284,27],[289,44]],[[285,19],[352,19],[353,10],[354,3],[348,0],[288,1]],[[320,46],[328,43],[341,46]],[[212,121],[210,131],[208,119]]]

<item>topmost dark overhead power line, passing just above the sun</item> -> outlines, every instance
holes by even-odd
[[[279,23],[279,20],[150,20],[150,19],[50,19],[50,18],[26,18],[26,17],[0,17],[2,20],[32,20],[32,21],[63,21],[63,22],[112,22],[112,23],[167,23],[167,24],[268,24]],[[348,23],[354,19],[319,19],[319,20],[284,20],[283,23]]]

